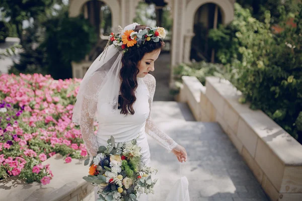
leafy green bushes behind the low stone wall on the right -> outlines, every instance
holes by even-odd
[[[261,109],[288,133],[302,142],[299,113],[302,111],[302,6],[294,22],[287,27],[287,13],[279,7],[284,31],[270,30],[270,13],[264,23],[252,17],[247,9],[235,4],[235,19],[227,27],[210,32],[216,44],[217,60],[230,68],[230,81],[251,102],[252,109]]]

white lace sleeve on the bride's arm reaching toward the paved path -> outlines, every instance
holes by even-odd
[[[150,108],[150,113],[149,116],[146,120],[146,125],[145,125],[145,132],[152,136],[154,139],[157,140],[157,142],[162,145],[164,148],[166,148],[169,152],[172,151],[178,144],[170,138],[166,133],[161,131],[155,122],[151,118],[151,108],[152,108],[152,103],[153,103],[153,97],[155,93],[155,88],[156,88],[156,80],[153,75],[147,74],[144,78],[144,82],[147,85],[147,88],[149,90],[149,108]]]

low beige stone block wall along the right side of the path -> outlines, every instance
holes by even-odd
[[[302,145],[262,111],[238,102],[241,92],[229,81],[183,76],[180,102],[196,120],[218,122],[271,200],[302,200]]]

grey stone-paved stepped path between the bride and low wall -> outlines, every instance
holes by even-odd
[[[180,168],[189,180],[191,201],[268,200],[261,185],[217,123],[196,122],[186,104],[155,101],[152,118],[164,132],[184,146],[188,161],[181,164],[148,136],[151,165],[159,178],[149,201],[165,200]],[[170,201],[170,200],[169,200]],[[171,200],[172,201],[172,200]]]

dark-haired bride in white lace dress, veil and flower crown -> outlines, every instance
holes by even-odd
[[[90,158],[98,147],[107,145],[112,135],[116,142],[137,138],[142,162],[150,162],[146,134],[152,136],[176,155],[179,162],[187,160],[184,147],[162,132],[150,117],[156,80],[154,62],[165,43],[166,31],[161,27],[147,27],[133,23],[111,33],[104,52],[86,72],[73,108],[72,122],[80,125]],[[109,45],[110,44],[110,45]],[[94,119],[98,132],[94,134]],[[95,189],[96,198],[97,188]],[[147,201],[142,194],[138,200]]]

